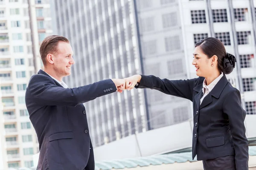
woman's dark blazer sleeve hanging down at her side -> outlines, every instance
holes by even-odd
[[[223,103],[223,110],[228,115],[230,123],[235,148],[236,170],[248,170],[248,140],[245,136],[244,126],[246,112],[241,106],[241,95],[237,89],[227,95]]]

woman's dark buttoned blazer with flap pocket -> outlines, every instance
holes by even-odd
[[[151,88],[193,102],[192,158],[215,159],[235,155],[236,170],[248,170],[248,141],[245,136],[246,112],[241,107],[240,92],[224,75],[212,91],[203,96],[203,77],[168,80],[143,76],[135,88]]]

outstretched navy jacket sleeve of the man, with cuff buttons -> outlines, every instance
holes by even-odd
[[[78,88],[63,88],[55,85],[51,77],[35,74],[29,81],[27,97],[40,105],[76,106],[97,97],[116,91],[116,85],[111,79],[84,85]],[[27,99],[26,99],[27,100]],[[31,100],[29,100],[31,101]]]

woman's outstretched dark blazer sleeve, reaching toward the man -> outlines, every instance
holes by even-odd
[[[198,78],[187,80],[169,80],[160,79],[159,77],[155,77],[153,75],[141,75],[140,83],[138,83],[139,85],[135,86],[135,88],[155,89],[165,94],[182,97],[192,101],[192,91],[197,82]]]

